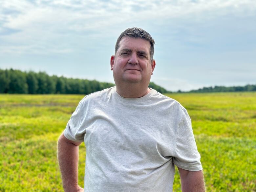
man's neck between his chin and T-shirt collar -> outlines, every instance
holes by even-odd
[[[128,86],[117,86],[116,91],[118,95],[125,98],[139,98],[147,95],[151,90],[148,87],[140,87],[136,85],[128,85]]]

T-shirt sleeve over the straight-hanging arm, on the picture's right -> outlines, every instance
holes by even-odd
[[[187,111],[184,111],[184,115],[179,123],[173,163],[177,167],[189,171],[203,169]]]

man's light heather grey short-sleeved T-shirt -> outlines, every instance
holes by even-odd
[[[174,99],[116,88],[85,96],[64,131],[86,145],[85,192],[170,192],[174,164],[202,170],[191,121]]]

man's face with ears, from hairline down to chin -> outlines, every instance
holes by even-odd
[[[123,37],[116,55],[111,56],[110,64],[116,84],[129,82],[148,85],[156,62],[150,59],[149,41]]]

